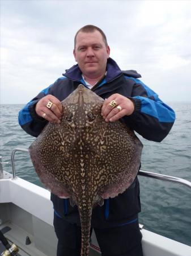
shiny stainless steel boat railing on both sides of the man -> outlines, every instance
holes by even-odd
[[[28,153],[28,149],[26,149],[26,148],[19,148],[18,147],[18,148],[15,148],[12,151],[12,154],[11,154],[11,164],[12,164],[12,176],[13,176],[13,179],[16,178],[16,170],[15,170],[14,157],[15,157],[15,153],[17,151],[27,152]],[[1,172],[1,167],[2,167],[2,164],[1,164],[1,157],[0,157],[0,172]],[[156,174],[155,172],[147,172],[147,171],[142,171],[142,170],[140,170],[138,174],[140,176],[151,177],[151,178],[158,179],[158,180],[164,180],[164,181],[170,181],[170,182],[174,182],[174,183],[179,183],[179,184],[186,185],[187,187],[191,188],[191,182],[190,181],[182,179],[182,178],[179,178],[179,177],[168,176],[168,175],[163,175],[163,174]]]

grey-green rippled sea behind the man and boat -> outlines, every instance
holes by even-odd
[[[28,148],[35,138],[18,125],[18,112],[23,105],[0,105],[0,155],[11,163],[11,151]],[[176,122],[161,143],[146,141],[142,170],[182,177],[191,181],[191,102],[169,104],[176,112]],[[16,175],[43,186],[27,153],[16,152]],[[11,171],[11,164],[3,166]],[[145,229],[191,246],[191,189],[184,185],[139,177],[142,212],[140,223]]]

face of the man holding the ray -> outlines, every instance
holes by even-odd
[[[99,31],[78,33],[74,57],[85,77],[96,79],[104,75],[109,53]]]

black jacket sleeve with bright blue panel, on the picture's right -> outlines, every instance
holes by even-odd
[[[175,122],[175,112],[143,82],[129,79],[134,80],[130,100],[134,102],[135,110],[124,121],[143,138],[161,142]]]

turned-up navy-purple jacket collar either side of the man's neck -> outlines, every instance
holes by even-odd
[[[122,74],[121,69],[118,67],[116,61],[109,57],[107,61],[107,74],[105,76],[106,82],[113,80]],[[66,73],[62,74],[71,80],[80,81],[82,79],[82,71],[80,71],[78,64],[70,69],[66,69]]]

